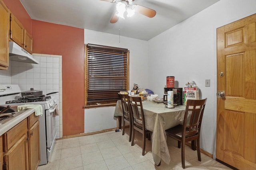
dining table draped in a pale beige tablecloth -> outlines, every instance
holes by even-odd
[[[165,130],[183,123],[186,106],[168,108],[164,103],[157,103],[150,100],[142,102],[142,106],[145,117],[145,127],[152,131],[153,160],[156,165],[160,165],[161,160],[169,164],[170,153],[166,142]],[[116,102],[114,116],[123,116],[121,100]]]

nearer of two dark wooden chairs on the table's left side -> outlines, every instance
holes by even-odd
[[[151,131],[145,127],[145,117],[141,97],[129,96],[130,111],[132,115],[132,146],[134,145],[135,130],[142,133],[142,155],[145,155],[146,136],[150,140]]]

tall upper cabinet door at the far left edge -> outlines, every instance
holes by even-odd
[[[0,0],[0,70],[7,70],[9,66],[9,18],[9,9]]]

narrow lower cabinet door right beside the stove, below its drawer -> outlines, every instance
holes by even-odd
[[[39,121],[37,121],[28,131],[29,154],[30,154],[30,170],[36,170],[40,162],[40,135]]]

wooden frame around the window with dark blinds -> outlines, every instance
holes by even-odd
[[[123,49],[123,48],[118,48],[118,47],[110,47],[110,46],[104,46],[104,45],[95,45],[95,44],[85,44],[84,45],[84,108],[88,109],[88,108],[94,108],[94,107],[106,107],[106,106],[116,106],[116,101],[119,100],[119,98],[116,98],[115,101],[110,101],[110,102],[102,102],[102,104],[92,104],[92,105],[88,105],[88,82],[89,82],[89,78],[90,76],[88,76],[88,46],[89,47],[96,47],[96,48],[102,48],[102,49],[106,49],[108,50],[108,54],[109,54],[109,50],[118,50],[118,51],[125,51],[126,52],[126,86],[125,86],[125,91],[129,90],[129,58],[130,58],[130,51],[128,49]],[[90,50],[89,50],[90,51]],[[113,52],[114,53],[114,52]],[[113,54],[114,55],[114,54]],[[109,57],[109,56],[108,56]],[[124,55],[125,57],[125,55]],[[125,68],[124,68],[125,69]],[[104,76],[102,76],[104,77]],[[92,80],[92,79],[91,79]],[[114,80],[114,78],[112,79]],[[122,90],[124,91],[124,90]]]

